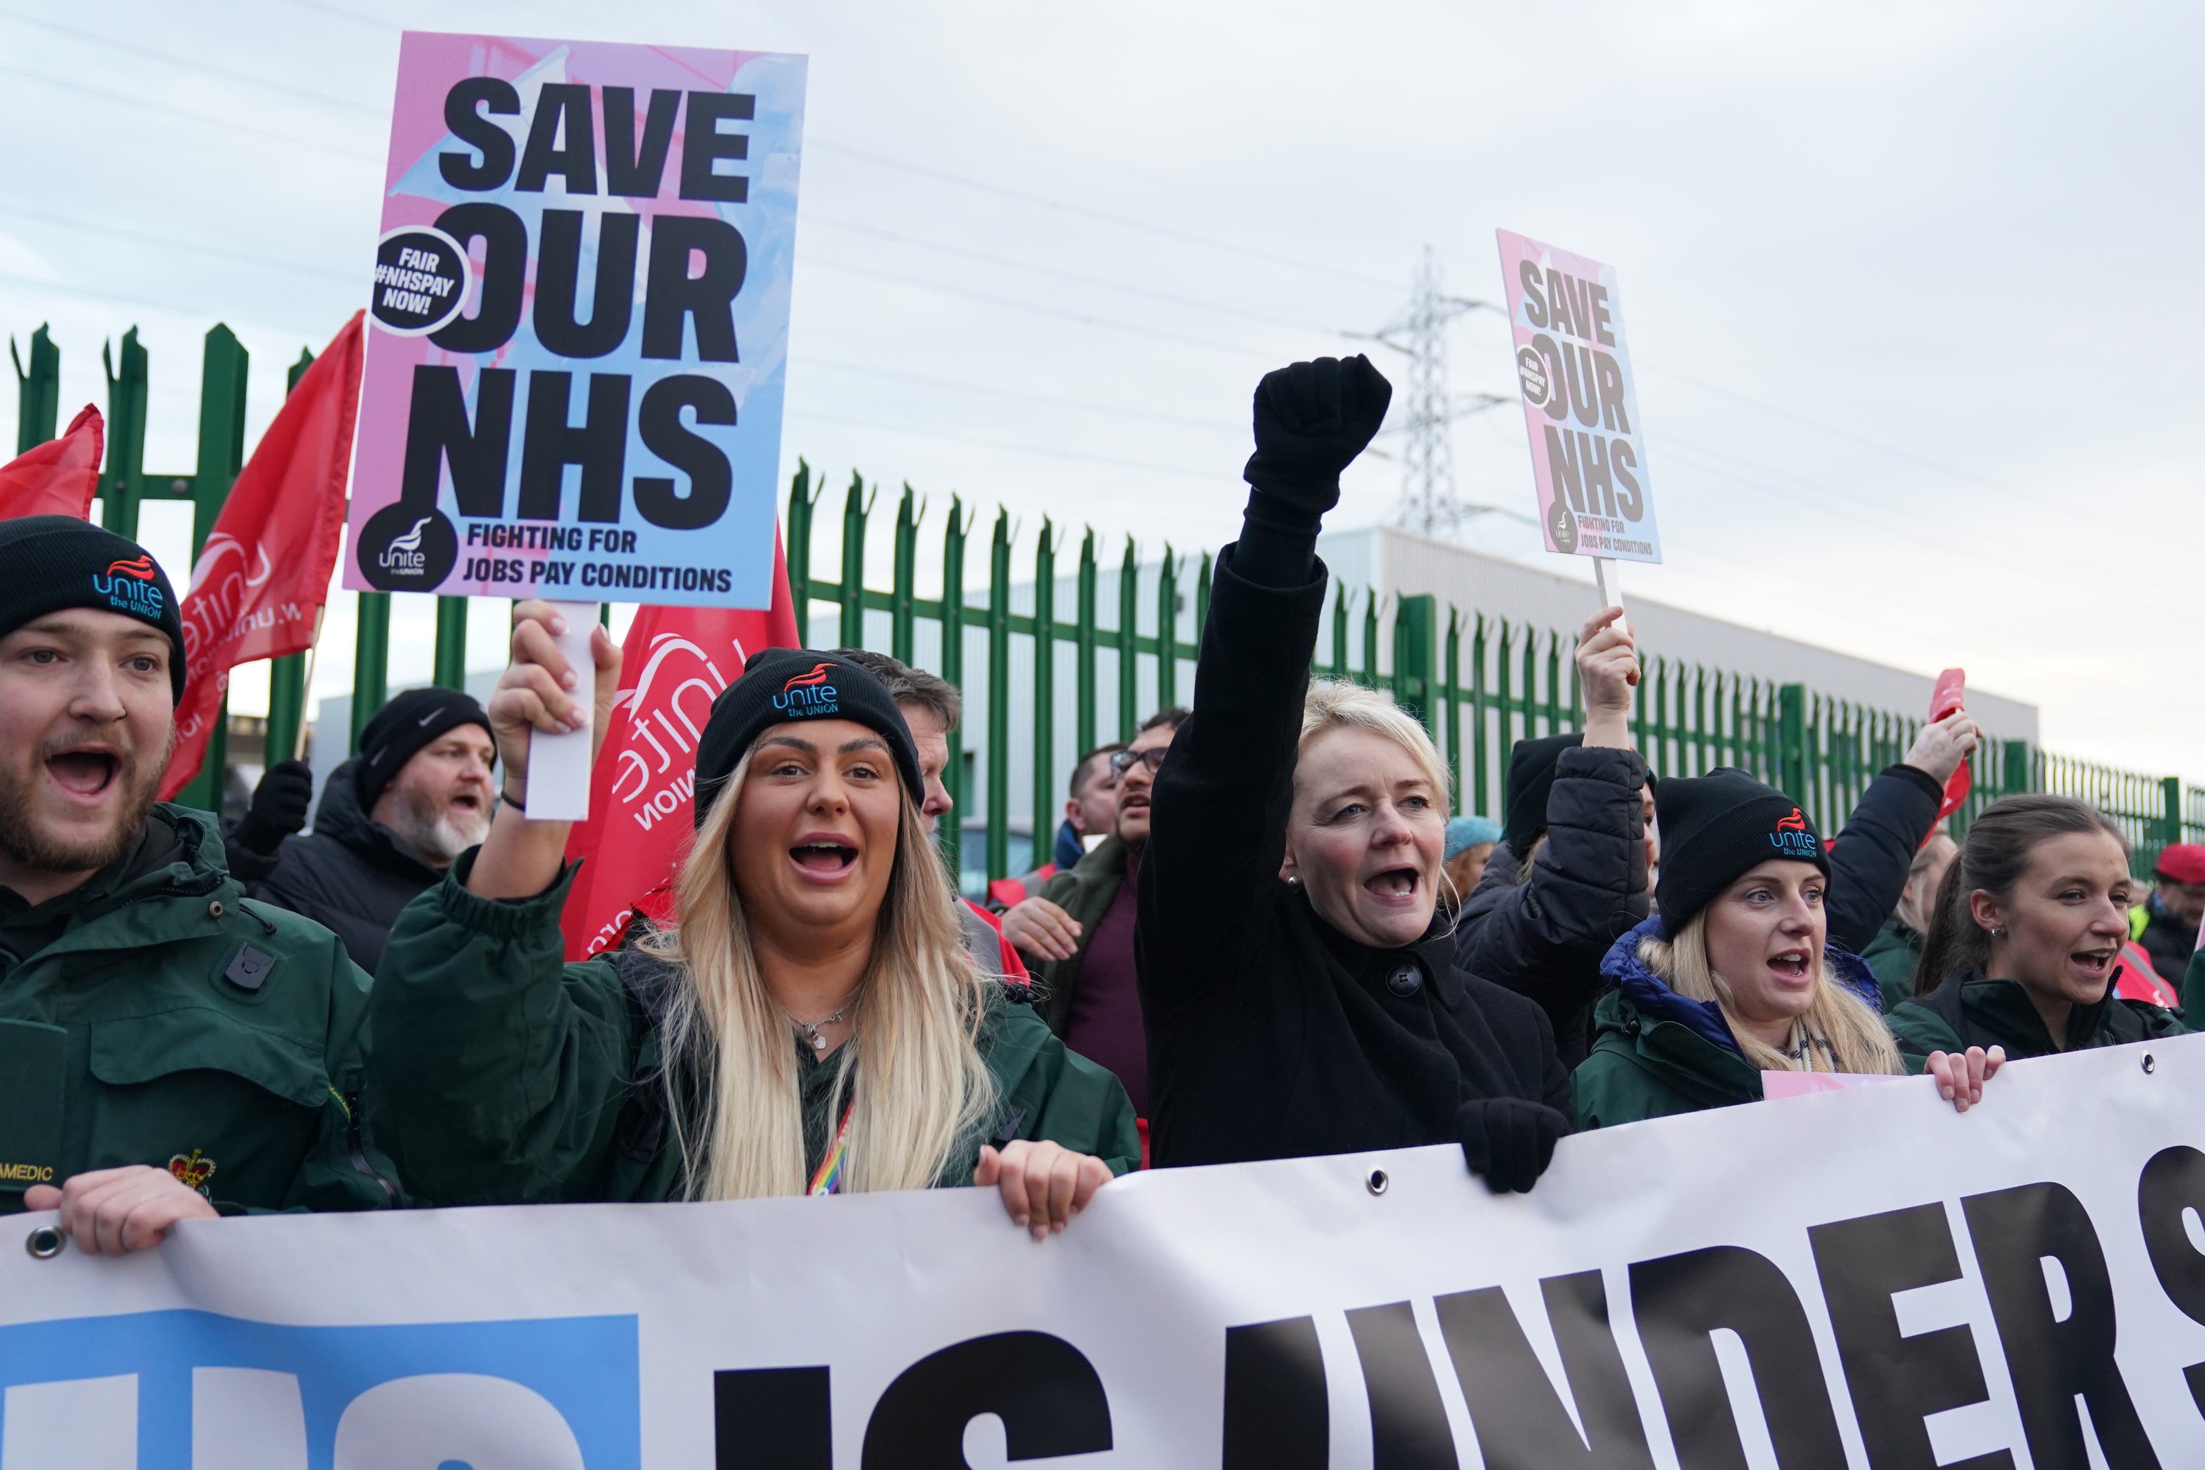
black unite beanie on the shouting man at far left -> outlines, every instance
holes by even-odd
[[[174,701],[183,703],[183,613],[146,547],[75,516],[0,520],[0,637],[62,608],[121,613],[168,635]]]

